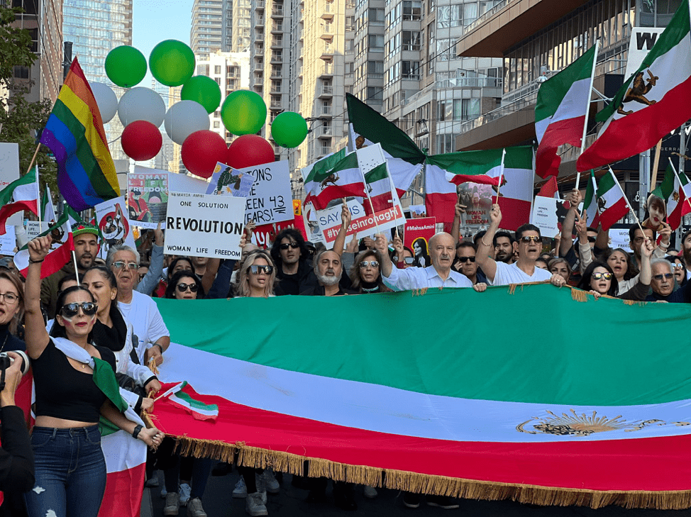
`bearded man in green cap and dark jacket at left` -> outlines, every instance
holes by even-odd
[[[77,272],[79,272],[79,279],[81,280],[82,274],[94,265],[94,258],[98,255],[99,229],[88,223],[74,223],[72,238],[74,239],[74,255],[77,257]],[[57,284],[68,274],[74,276],[74,260],[67,262],[60,271],[46,277],[41,283],[40,299],[48,313],[48,319],[55,318]]]

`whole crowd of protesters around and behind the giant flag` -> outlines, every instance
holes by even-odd
[[[569,200],[572,208],[553,249],[551,239],[543,239],[531,224],[514,233],[500,230],[497,204],[486,231],[460,238],[468,231],[460,228],[465,207],[458,204],[450,233],[436,233],[429,242],[417,239],[412,249],[397,232],[353,238],[346,245],[350,212],[345,206],[341,231],[329,249],[306,242],[299,230],[289,228],[265,250],[250,243],[250,224],[237,261],[164,255],[160,229],[144,240],[146,247],[116,245],[104,261],[97,258],[98,228],[79,223],[73,228],[75,260],[43,281],[40,270],[51,240],[32,240],[26,279],[11,260],[0,260],[2,350],[26,352],[35,382],[35,488],[23,498],[9,494],[4,508],[31,517],[95,517],[106,479],[97,424],[106,418],[150,447],[148,486],[157,486],[155,469],[162,470],[163,515],[178,515],[180,506],[187,506],[188,516],[206,516],[202,499],[208,477],[212,470],[223,474],[231,467],[177,456],[172,440],[128,420],[126,411],[104,396],[100,383],[105,381],[96,374],[104,372],[106,381],[117,382],[136,413],[153,410],[161,389],[154,372],[170,345],[153,297],[187,304],[201,298],[342,296],[429,287],[482,292],[488,286],[549,282],[596,299],[691,301],[691,232],[683,235],[677,251],[669,249],[666,223],[657,232],[634,225],[631,249],[612,249],[607,233],[588,228],[575,209],[579,192],[570,193]],[[267,515],[267,493],[280,491],[280,472],[248,467],[238,467],[238,472],[233,496],[245,499],[249,515]],[[324,478],[293,479],[295,486],[309,489],[308,501],[324,501],[327,483]],[[377,491],[364,487],[364,494],[372,498]],[[335,482],[333,495],[340,508],[357,508],[353,484]],[[410,508],[421,501],[419,494],[404,494],[403,500]],[[426,502],[458,507],[441,496],[426,496]]]

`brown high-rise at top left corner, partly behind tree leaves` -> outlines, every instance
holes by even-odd
[[[13,26],[29,31],[31,51],[38,57],[31,68],[16,67],[15,79],[33,82],[27,100],[55,102],[62,85],[62,0],[13,0],[6,4],[24,10],[16,15]]]

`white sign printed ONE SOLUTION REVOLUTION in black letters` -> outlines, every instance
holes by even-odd
[[[241,197],[171,191],[164,252],[239,259],[244,215],[245,199]]]

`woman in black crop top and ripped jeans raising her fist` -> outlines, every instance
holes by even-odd
[[[31,517],[96,517],[106,487],[99,418],[150,447],[157,447],[163,434],[128,420],[104,394],[106,386],[116,384],[115,356],[92,343],[98,306],[88,289],[75,286],[60,293],[51,335],[46,332],[40,269],[50,244],[48,236],[28,244],[25,326],[35,384],[36,484],[25,494],[26,505]]]

